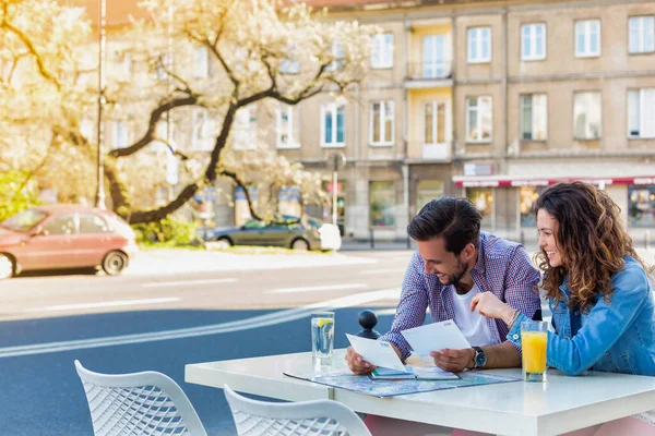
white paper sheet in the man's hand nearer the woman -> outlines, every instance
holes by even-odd
[[[452,319],[432,323],[402,331],[414,352],[420,356],[429,356],[431,351],[443,349],[461,350],[471,348],[462,330]]]

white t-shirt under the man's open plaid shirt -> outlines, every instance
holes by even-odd
[[[453,293],[453,303],[455,306],[455,324],[457,324],[468,343],[472,347],[485,347],[498,343],[495,339],[498,334],[497,331],[495,331],[496,335],[491,332],[487,324],[487,318],[475,311],[471,312],[471,300],[480,293],[477,284],[474,283],[471,291],[464,295],[460,295],[454,286],[451,286],[451,292]],[[496,329],[496,323],[492,325],[493,329]]]

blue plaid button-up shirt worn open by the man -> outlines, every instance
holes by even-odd
[[[501,301],[532,318],[540,307],[536,291],[540,276],[525,249],[515,242],[481,232],[478,250],[478,259],[471,277],[480,292],[493,292]],[[380,340],[396,346],[403,360],[409,356],[412,348],[401,331],[421,326],[427,307],[430,307],[432,322],[453,319],[457,323],[451,286],[441,284],[437,276],[424,272],[424,261],[417,251],[405,272],[391,330],[380,337]],[[496,343],[507,340],[509,329],[502,319],[487,318],[487,325]],[[521,352],[519,347],[516,349]]]

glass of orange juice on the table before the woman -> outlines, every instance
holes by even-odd
[[[524,320],[521,323],[521,349],[523,351],[523,379],[546,382],[546,349],[548,323]]]

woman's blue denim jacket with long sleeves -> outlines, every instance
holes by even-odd
[[[633,257],[611,278],[612,294],[599,295],[591,310],[570,310],[568,280],[564,299],[548,301],[552,328],[548,332],[548,365],[568,375],[585,370],[655,376],[655,304],[651,280]],[[520,315],[508,339],[521,346]]]

